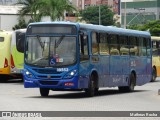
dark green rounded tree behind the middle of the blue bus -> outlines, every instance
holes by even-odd
[[[114,13],[106,5],[100,6],[101,13],[101,25],[114,25],[115,21],[113,20]],[[85,20],[87,23],[99,24],[99,6],[90,6],[80,12],[82,20]]]

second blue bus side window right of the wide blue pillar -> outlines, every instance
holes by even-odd
[[[109,55],[108,35],[100,33],[99,52],[100,55]]]

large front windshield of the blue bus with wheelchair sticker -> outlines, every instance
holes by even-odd
[[[76,37],[27,37],[25,62],[40,67],[60,67],[76,62]]]

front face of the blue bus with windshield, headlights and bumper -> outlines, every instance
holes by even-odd
[[[77,89],[77,30],[74,25],[30,24],[26,32],[24,86]]]

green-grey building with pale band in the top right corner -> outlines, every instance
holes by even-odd
[[[160,18],[160,0],[122,0],[121,26],[143,25]]]

